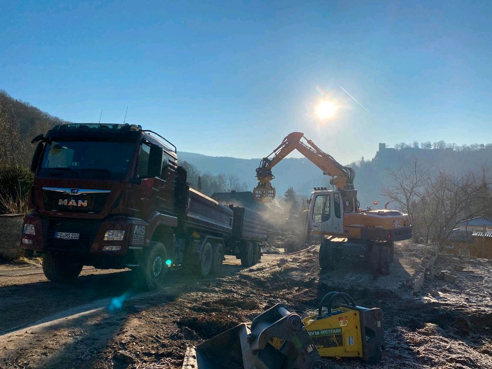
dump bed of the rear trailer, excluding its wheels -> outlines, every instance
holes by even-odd
[[[267,218],[246,208],[234,207],[232,234],[238,239],[266,241],[268,236]]]

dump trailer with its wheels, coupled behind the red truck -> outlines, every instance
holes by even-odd
[[[267,241],[267,219],[248,208],[229,206],[234,213],[231,236],[226,241],[230,255],[241,259],[244,267],[251,267],[261,257],[260,242]]]

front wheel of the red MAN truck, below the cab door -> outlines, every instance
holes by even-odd
[[[140,267],[134,270],[135,286],[149,291],[160,288],[168,270],[167,259],[168,253],[165,245],[157,241],[150,242]]]

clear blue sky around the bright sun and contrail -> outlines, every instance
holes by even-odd
[[[262,157],[302,131],[348,163],[492,142],[491,24],[489,1],[4,1],[0,89],[77,122],[128,106],[178,150]]]

